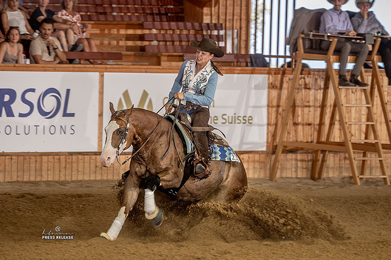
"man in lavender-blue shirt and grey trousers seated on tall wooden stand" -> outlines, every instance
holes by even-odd
[[[356,36],[356,32],[353,30],[349,15],[347,12],[341,10],[341,5],[345,4],[348,0],[327,0],[334,5],[334,8],[327,10],[321,17],[320,33],[327,34],[345,34],[348,36]],[[323,40],[321,42],[321,48],[328,50],[331,42]],[[361,67],[364,65],[367,59],[369,47],[364,43],[352,42],[348,39],[340,38],[335,46],[335,51],[340,52],[340,66],[339,66],[339,80],[340,86],[359,86],[367,87],[367,83],[358,80]],[[346,78],[346,63],[348,62],[349,53],[357,53],[356,64],[350,73],[349,81]]]

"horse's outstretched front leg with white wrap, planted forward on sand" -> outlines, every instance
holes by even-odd
[[[117,217],[113,220],[107,233],[102,232],[100,234],[101,237],[111,241],[117,239],[129,212],[133,209],[133,206],[136,203],[138,194],[140,193],[139,184],[140,180],[136,175],[130,174],[126,179],[122,207],[120,208]]]

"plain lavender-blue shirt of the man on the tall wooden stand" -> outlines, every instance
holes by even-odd
[[[320,33],[338,34],[353,30],[347,12],[330,9],[326,10],[321,17]]]

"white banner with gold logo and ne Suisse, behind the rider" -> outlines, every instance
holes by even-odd
[[[168,100],[176,75],[105,73],[103,128],[111,116],[109,102],[116,110],[130,108],[132,104],[155,112],[159,110]],[[231,74],[218,77],[209,124],[220,129],[235,150],[266,150],[267,78],[267,75]],[[102,131],[104,142],[105,131]]]

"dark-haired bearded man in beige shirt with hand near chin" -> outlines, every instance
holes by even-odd
[[[31,42],[30,60],[37,64],[67,63],[65,53],[57,38],[51,37],[54,22],[50,18],[41,21],[41,34]]]

